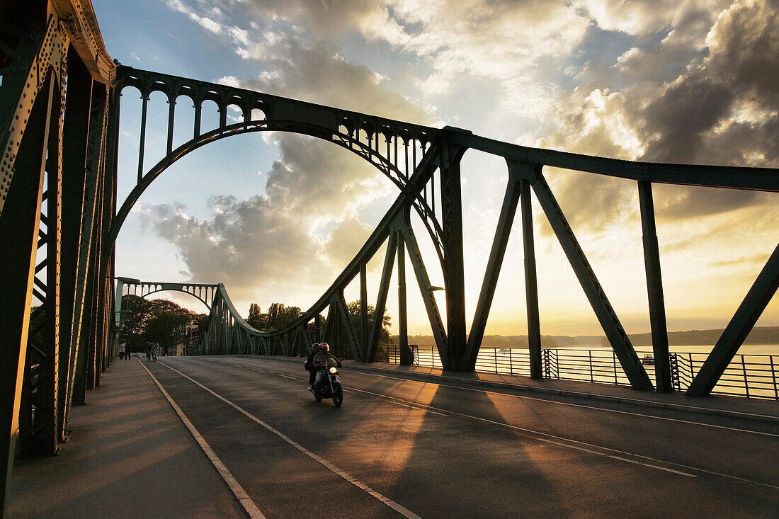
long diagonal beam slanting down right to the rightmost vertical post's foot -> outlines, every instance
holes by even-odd
[[[584,252],[573,234],[573,229],[568,224],[565,215],[562,214],[562,209],[540,169],[534,172],[529,180],[549,224],[552,225],[552,230],[555,231],[555,235],[562,245],[562,250],[566,252],[568,261],[573,267],[576,277],[579,278],[579,283],[590,301],[590,306],[592,306],[597,320],[601,323],[609,343],[612,344],[612,348],[619,358],[619,363],[630,381],[630,386],[635,390],[654,390],[646,370],[643,369],[643,365],[636,355],[636,350],[633,349],[633,344],[630,344],[628,334],[622,328],[619,317],[608,301],[600,282],[597,281],[597,277],[590,267],[590,262],[587,261],[587,256],[584,256]]]

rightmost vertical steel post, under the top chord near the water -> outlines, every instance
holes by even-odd
[[[671,380],[671,356],[668,355],[668,327],[665,323],[665,300],[660,269],[660,250],[657,247],[657,226],[654,222],[652,183],[638,181],[638,197],[643,231],[643,261],[647,270],[647,295],[649,320],[652,327],[652,351],[654,351],[654,383],[657,393],[674,390]]]

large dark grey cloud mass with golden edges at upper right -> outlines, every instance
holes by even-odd
[[[636,34],[666,27],[667,34],[648,48],[630,48],[608,70],[584,67],[587,81],[559,95],[538,145],[640,161],[779,165],[777,2],[737,0],[721,11],[681,2],[643,20],[640,2],[585,3],[606,27]],[[593,176],[569,175],[558,189],[561,205],[575,208],[572,222],[591,230],[608,223],[601,207],[619,208],[636,197],[634,185]],[[654,193],[657,217],[666,221],[750,207],[777,211],[770,193],[666,185]],[[610,221],[622,217],[618,209]]]

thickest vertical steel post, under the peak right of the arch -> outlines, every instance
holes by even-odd
[[[461,147],[444,146],[441,171],[441,213],[446,283],[446,351],[451,356],[444,369],[472,371],[466,358],[465,273],[463,260],[463,209],[460,188]]]

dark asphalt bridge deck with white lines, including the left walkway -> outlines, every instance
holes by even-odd
[[[230,356],[114,362],[62,453],[17,462],[10,517],[245,516],[142,364],[266,517],[779,514],[777,422],[648,407],[776,418],[773,401],[345,365],[334,408],[299,360]]]

